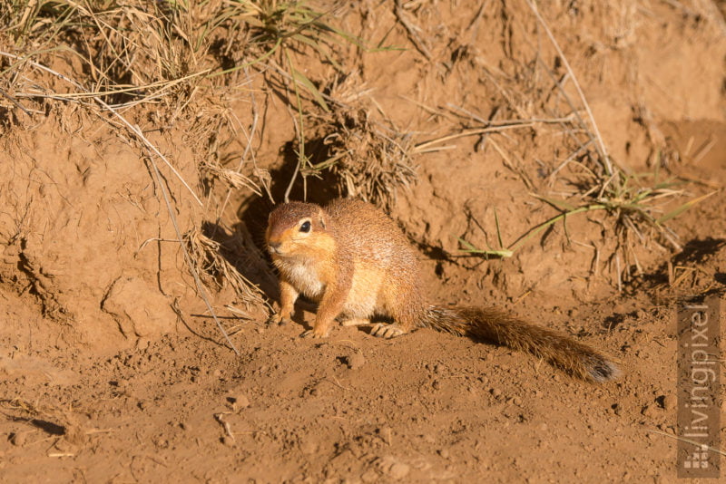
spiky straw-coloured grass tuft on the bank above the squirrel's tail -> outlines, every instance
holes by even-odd
[[[685,189],[684,180],[664,180],[659,172],[662,161],[678,160],[678,155],[669,147],[656,144],[658,140],[654,137],[651,137],[653,149],[656,153],[662,153],[662,157],[667,157],[667,160],[656,160],[652,172],[632,173],[624,169],[617,160],[613,160],[577,75],[544,18],[546,13],[541,14],[530,0],[525,0],[525,5],[528,5],[534,23],[525,24],[525,21],[519,19],[513,23],[512,28],[529,45],[529,56],[519,60],[512,75],[484,67],[486,78],[495,87],[495,92],[498,92],[505,105],[504,109],[496,112],[496,117],[506,117],[506,121],[497,121],[494,117],[486,120],[466,108],[448,106],[462,120],[464,127],[441,140],[484,133],[492,136],[487,142],[493,144],[505,167],[515,172],[526,189],[534,192],[536,198],[559,213],[531,227],[509,244],[504,244],[501,240],[498,220],[495,220],[495,233],[499,238],[499,247],[474,247],[463,239],[459,239],[460,243],[468,254],[511,257],[527,241],[543,234],[554,224],[564,223],[567,218],[576,214],[600,211],[605,214],[604,237],[614,240],[614,245],[610,253],[597,252],[597,264],[607,266],[610,270],[602,273],[614,275],[613,284],[622,289],[624,281],[643,274],[643,267],[637,257],[638,247],[655,243],[672,250],[680,250],[678,237],[668,227],[668,222],[716,192],[679,202],[690,195]],[[625,13],[620,14],[623,14],[622,18],[618,17],[621,20],[627,17]],[[633,26],[625,25],[623,28],[630,32]],[[533,29],[543,35],[538,35],[535,39],[532,35]],[[540,37],[548,42],[543,44]],[[623,48],[623,45],[613,48]],[[511,140],[504,135],[504,131],[524,128],[541,135],[544,127],[549,132],[552,129],[559,131],[568,154],[553,169],[544,173],[544,183],[537,184],[533,181],[535,177],[531,176],[531,170],[525,169],[525,163],[517,159],[517,150],[510,148]],[[549,194],[539,195],[547,192],[567,196],[559,198]],[[594,273],[601,274],[599,269],[594,268]]]

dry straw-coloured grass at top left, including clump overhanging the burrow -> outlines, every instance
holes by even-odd
[[[263,73],[263,91],[280,92],[282,87],[287,92],[299,155],[290,187],[300,182],[299,176],[306,185],[308,176],[332,168],[339,175],[341,193],[389,206],[397,187],[414,179],[406,136],[371,126],[367,116],[351,115],[348,104],[338,100],[338,92],[323,94],[298,68],[298,63],[314,57],[342,74],[339,51],[343,44],[367,48],[355,36],[327,23],[331,11],[318,11],[305,1],[277,0],[203,4],[0,0],[0,10],[4,12],[0,34],[15,45],[9,54],[16,56],[2,70],[12,75],[0,85],[0,94],[23,110],[26,100],[41,98],[92,109],[92,98],[97,98],[117,111],[142,105],[144,111],[138,112],[152,110],[154,123],[162,129],[193,118],[190,139],[204,160],[204,181],[221,180],[231,188],[260,194],[268,191],[263,174],[240,172],[243,163],[230,169],[215,160],[221,144],[235,138],[251,142],[256,134],[256,123],[247,131],[230,109],[235,101],[254,104],[251,98],[259,83],[252,85],[251,68]],[[54,59],[67,59],[69,54],[75,58],[71,63],[81,63],[88,73],[70,91],[67,85],[39,82],[28,73],[29,60],[54,66]],[[319,115],[330,118],[323,136],[330,140],[338,136],[331,144],[332,157],[344,160],[335,166],[332,162],[313,166],[306,151],[311,128],[306,119]],[[345,124],[350,120],[356,126]],[[316,122],[317,132],[321,125]],[[220,140],[219,134],[225,132],[230,133],[228,139]],[[370,140],[354,140],[359,136]],[[343,151],[367,161],[358,164]],[[370,181],[366,173],[371,174]]]

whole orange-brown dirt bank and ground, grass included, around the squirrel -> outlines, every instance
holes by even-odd
[[[31,4],[0,14],[0,480],[674,479],[672,302],[726,285],[717,5]],[[336,196],[434,301],[623,378],[269,327],[270,207]]]

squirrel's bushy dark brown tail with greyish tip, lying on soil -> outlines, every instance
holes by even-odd
[[[422,325],[533,353],[584,380],[606,382],[620,374],[617,364],[594,348],[565,334],[526,323],[494,307],[431,305]]]

